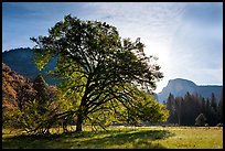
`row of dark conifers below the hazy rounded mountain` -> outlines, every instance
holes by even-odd
[[[170,94],[164,105],[170,110],[169,123],[194,126],[200,114],[206,117],[208,126],[223,123],[223,93],[218,101],[214,93],[212,93],[211,98],[204,98],[199,94],[190,94],[189,91],[184,97],[174,97]]]

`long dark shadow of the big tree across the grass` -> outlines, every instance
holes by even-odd
[[[152,143],[174,136],[168,130],[109,130],[83,131],[51,136],[18,136],[2,140],[2,148],[74,148],[74,149],[163,149],[160,143]]]

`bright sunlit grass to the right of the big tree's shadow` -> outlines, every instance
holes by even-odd
[[[223,128],[168,128],[174,136],[160,142],[165,148],[222,149]]]

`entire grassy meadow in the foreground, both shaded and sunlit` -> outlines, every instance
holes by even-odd
[[[223,149],[223,128],[107,128],[81,133],[25,137],[3,129],[3,149]],[[54,129],[51,131],[55,132]]]

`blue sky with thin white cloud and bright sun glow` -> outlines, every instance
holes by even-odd
[[[121,37],[141,37],[164,74],[156,93],[174,78],[223,84],[222,2],[3,2],[2,51],[32,47],[30,37],[47,35],[69,13],[115,25]]]

